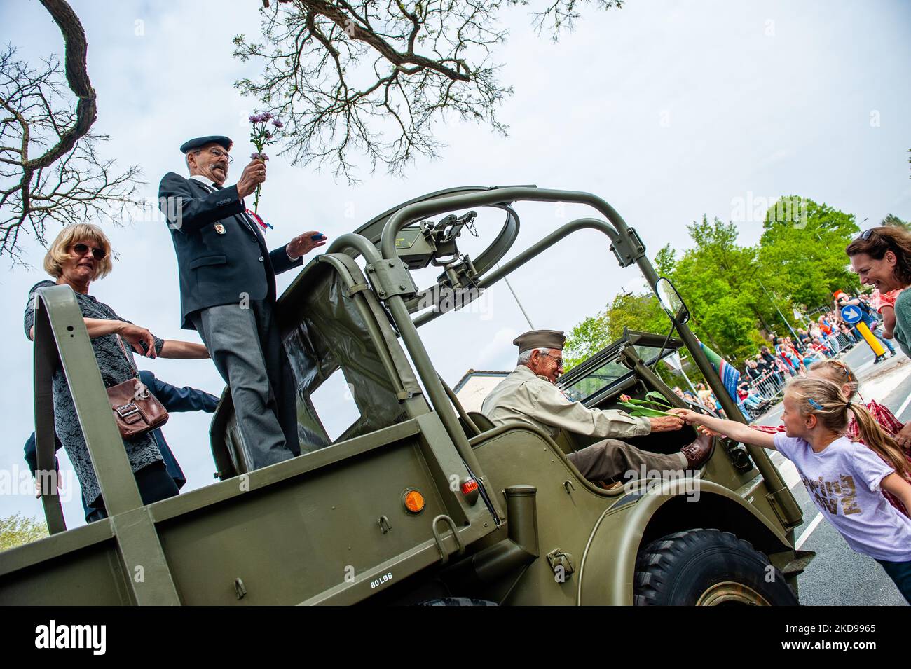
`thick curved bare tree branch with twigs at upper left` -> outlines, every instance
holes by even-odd
[[[90,132],[97,105],[85,30],[65,0],[41,4],[63,34],[64,70],[53,56],[33,67],[12,46],[0,53],[0,256],[14,261],[23,229],[46,244],[51,221],[117,221],[139,203],[138,167],[118,174],[113,160],[97,155],[107,137]]]

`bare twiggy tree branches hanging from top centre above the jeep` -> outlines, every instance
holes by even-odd
[[[236,86],[285,122],[293,163],[328,163],[354,181],[353,157],[363,154],[372,170],[401,174],[417,155],[438,156],[437,122],[455,117],[507,134],[496,111],[512,87],[498,81],[492,57],[507,37],[498,15],[510,5],[528,2],[280,0],[261,10],[262,43],[234,37],[234,56],[263,65]],[[579,5],[622,0],[555,0],[533,24],[557,39]]]

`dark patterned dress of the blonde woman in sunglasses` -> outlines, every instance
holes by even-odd
[[[54,281],[46,280],[37,283],[28,291],[28,301],[26,302],[26,337],[28,331],[35,324],[35,291],[47,286],[56,286]],[[121,319],[114,309],[111,309],[93,298],[91,295],[76,293],[76,299],[82,315],[87,319],[106,319],[106,320],[125,320]],[[129,321],[127,321],[129,322]],[[125,380],[133,378],[133,370],[136,369],[133,351],[125,343],[125,347],[130,356],[129,362],[120,350],[117,335],[105,335],[104,337],[94,337],[90,340],[92,349],[95,351],[95,360],[98,370],[101,371],[101,380],[104,381],[105,388],[116,386]],[[155,350],[161,351],[164,340],[155,338]],[[79,427],[79,420],[76,415],[76,406],[73,404],[73,396],[69,392],[67,377],[62,368],[54,372],[54,421],[57,436],[67,451],[73,467],[76,469],[76,475],[79,478],[79,484],[82,486],[82,492],[86,495],[89,505],[94,505],[97,497],[101,494],[98,487],[98,481],[95,478],[95,469],[92,467],[92,461],[88,457],[86,439],[82,434],[82,428]],[[151,433],[147,433],[135,440],[124,441],[124,447],[127,450],[129,464],[133,471],[139,471],[143,467],[161,460],[161,451]]]

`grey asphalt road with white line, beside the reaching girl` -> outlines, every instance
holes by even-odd
[[[865,400],[873,399],[885,404],[899,421],[911,421],[911,360],[901,350],[898,350],[895,358],[874,366],[873,353],[862,342],[844,354],[842,360],[855,370]],[[886,391],[884,396],[866,396],[865,388],[874,393]],[[778,405],[757,423],[780,425],[781,414],[782,408]],[[804,524],[794,532],[797,547],[816,552],[813,562],[798,577],[801,603],[837,606],[906,605],[905,598],[898,592],[892,579],[885,575],[883,568],[873,558],[852,551],[834,526],[822,518],[804,484],[799,479],[794,481],[793,465],[784,461],[778,453],[773,453],[773,461],[782,470],[794,497],[804,510]]]

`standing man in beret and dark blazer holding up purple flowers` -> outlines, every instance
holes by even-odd
[[[184,329],[197,329],[230,387],[253,469],[299,455],[297,402],[274,315],[275,275],[302,267],[325,244],[316,231],[269,250],[243,198],[266,178],[254,159],[235,186],[228,177],[231,140],[210,136],[180,147],[189,178],[161,179],[159,206],[169,220],[180,275]]]

